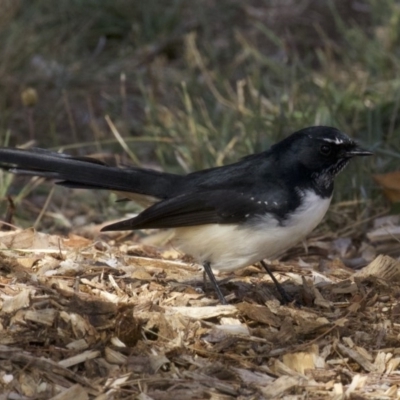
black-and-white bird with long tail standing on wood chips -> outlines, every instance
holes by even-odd
[[[264,260],[303,240],[325,216],[338,173],[353,157],[370,155],[337,128],[311,126],[232,164],[186,175],[38,148],[0,148],[0,168],[70,188],[111,190],[144,204],[137,216],[102,230],[172,228],[173,246],[203,266],[227,304],[214,271],[256,262],[289,301]]]

